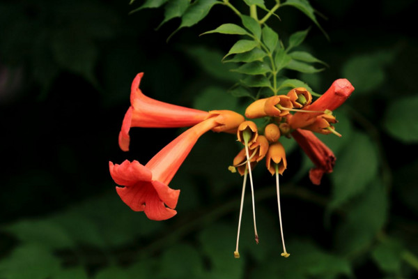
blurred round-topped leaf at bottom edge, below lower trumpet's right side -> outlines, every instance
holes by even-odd
[[[164,251],[160,261],[161,278],[201,278],[203,261],[193,246],[178,243]]]

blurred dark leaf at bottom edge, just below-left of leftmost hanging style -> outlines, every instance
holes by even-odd
[[[235,233],[232,227],[212,225],[199,234],[203,253],[212,266],[208,278],[242,278],[245,262],[233,257]]]

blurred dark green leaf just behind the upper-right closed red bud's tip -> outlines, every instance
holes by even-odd
[[[394,52],[375,52],[351,57],[343,65],[343,77],[355,86],[355,95],[372,93],[386,80],[385,66],[393,58]]]

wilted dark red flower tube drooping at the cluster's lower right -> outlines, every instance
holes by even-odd
[[[296,129],[292,136],[315,164],[316,167],[309,170],[309,179],[315,185],[319,185],[323,174],[332,172],[334,168],[334,153],[310,130]]]

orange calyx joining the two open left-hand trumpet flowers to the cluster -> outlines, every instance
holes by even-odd
[[[245,121],[244,116],[232,110],[212,110],[209,112],[209,115],[209,117],[215,117],[215,121],[219,123],[219,126],[212,128],[212,131],[217,133],[235,134],[240,123]]]

